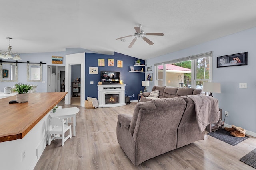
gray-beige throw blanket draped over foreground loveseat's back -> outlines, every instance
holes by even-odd
[[[188,95],[188,97],[195,104],[196,121],[200,132],[203,132],[211,123],[216,123],[217,126],[222,125],[217,99],[204,95]]]

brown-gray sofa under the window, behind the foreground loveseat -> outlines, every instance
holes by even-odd
[[[177,87],[170,87],[170,86],[154,86],[152,91],[159,90],[159,97],[158,98],[174,98],[180,97],[185,95],[196,95],[201,94],[202,89],[195,89],[195,88],[177,88]],[[152,99],[147,99],[150,95],[150,92],[142,93],[142,97],[140,98],[141,102],[150,101]]]

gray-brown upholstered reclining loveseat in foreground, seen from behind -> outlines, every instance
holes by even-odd
[[[202,98],[202,95],[194,96]],[[206,125],[216,123],[219,118],[218,100],[203,97],[202,101],[208,100],[207,103],[212,104],[215,110],[211,109],[213,114],[207,109],[200,109],[202,113],[213,115],[210,122],[205,121],[201,128],[196,117],[197,104],[190,96],[139,102],[133,115],[118,115],[117,140],[132,163],[137,166],[160,154],[203,140]]]

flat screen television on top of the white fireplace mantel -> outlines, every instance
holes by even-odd
[[[101,79],[102,84],[105,84],[105,83],[120,84],[120,72],[101,71],[100,79]]]

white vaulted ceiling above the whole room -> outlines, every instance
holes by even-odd
[[[84,48],[150,59],[256,27],[255,0],[0,0],[0,50]],[[153,45],[134,37],[142,25]]]

